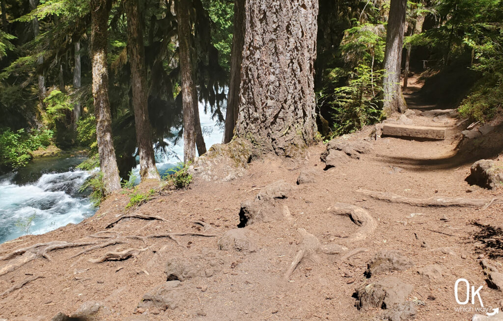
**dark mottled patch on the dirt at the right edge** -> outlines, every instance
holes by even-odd
[[[503,257],[503,229],[475,221],[471,224],[479,228],[479,231],[474,233],[473,239],[483,245],[477,250],[492,259]]]

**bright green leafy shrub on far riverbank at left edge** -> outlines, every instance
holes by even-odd
[[[33,157],[31,152],[39,147],[47,147],[52,135],[51,130],[26,133],[24,129],[0,129],[0,168],[16,170],[26,166]]]

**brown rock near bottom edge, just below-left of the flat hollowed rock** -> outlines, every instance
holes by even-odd
[[[147,293],[143,294],[143,298],[138,307],[147,308],[150,306],[158,307],[162,310],[170,308],[176,309],[182,300],[183,291],[179,288],[180,281],[167,281],[164,284],[157,285]]]

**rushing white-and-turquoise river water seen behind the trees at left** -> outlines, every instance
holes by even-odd
[[[220,143],[223,128],[215,124],[200,104],[201,126],[207,148]],[[156,155],[161,176],[183,159],[183,139],[171,141],[168,152]],[[0,243],[24,234],[42,234],[69,223],[79,223],[93,215],[88,194],[81,193],[82,184],[90,177],[86,171],[75,170],[83,156],[44,157],[28,164],[17,173],[0,176]],[[132,169],[139,183],[139,166]]]

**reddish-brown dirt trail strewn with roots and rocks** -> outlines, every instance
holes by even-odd
[[[105,307],[96,318],[106,320],[373,320],[387,317],[386,310],[357,309],[355,289],[388,276],[412,286],[405,299],[417,310],[417,320],[471,319],[475,312],[470,307],[480,304],[456,303],[458,278],[467,279],[475,288],[484,286],[480,296],[485,307],[501,307],[503,294],[487,286],[479,259],[485,256],[503,270],[501,204],[484,210],[418,207],[358,193],[370,190],[419,199],[501,196],[498,190],[464,181],[470,164],[456,157],[455,147],[464,129],[455,127],[459,119],[421,116],[421,107],[417,103],[415,114],[409,117],[413,124],[451,127],[446,140],[383,137],[372,141],[373,151],[359,155],[360,159],[347,157],[326,171],[319,158],[326,147],[320,144],[309,148],[305,158],[266,157],[253,162],[241,178],[196,180],[190,190],[158,196],[128,212],[161,219],[127,218],[107,229],[125,213],[129,200],[118,193],[80,224],[0,245],[3,258],[35,243],[98,245],[78,256],[94,245],[55,249],[47,252],[51,260],[37,252],[36,258],[0,276],[0,293],[33,278],[0,296],[0,319],[50,320],[60,311],[71,314],[82,303],[99,301]],[[341,141],[366,138],[371,129]],[[299,173],[307,170],[306,183],[296,185]],[[266,188],[278,180],[291,186]],[[250,207],[267,209],[259,211],[267,214],[266,222],[257,219],[244,228],[244,234],[226,234],[227,239],[219,241],[240,223],[240,204],[245,200],[250,200]],[[107,233],[99,233],[103,231]],[[167,235],[178,232],[207,236]],[[363,237],[355,237],[358,233]],[[129,253],[129,249],[139,251]],[[382,250],[397,250],[412,262],[404,270],[384,269],[367,278],[367,265]],[[109,251],[122,252],[119,260],[90,262]],[[7,263],[12,261],[0,261],[0,269]],[[430,265],[440,269],[425,273]],[[152,292],[166,280],[175,281],[170,288]],[[152,295],[144,297],[147,292]],[[144,303],[138,307],[142,298]],[[464,294],[460,298],[464,300]],[[149,306],[149,300],[162,308]],[[459,307],[465,309],[459,311]]]

